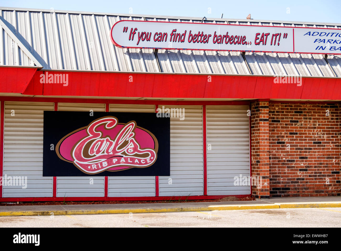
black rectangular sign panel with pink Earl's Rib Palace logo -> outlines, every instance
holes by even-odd
[[[43,176],[169,176],[170,119],[44,111]]]

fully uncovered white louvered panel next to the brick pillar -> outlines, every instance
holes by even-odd
[[[207,195],[250,194],[234,177],[250,176],[248,106],[207,106]],[[249,180],[249,179],[248,179]],[[242,180],[240,181],[242,182]]]

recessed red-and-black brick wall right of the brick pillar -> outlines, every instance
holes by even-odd
[[[269,103],[271,197],[340,195],[339,117],[338,104]]]

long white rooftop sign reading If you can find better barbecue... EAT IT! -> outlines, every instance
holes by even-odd
[[[341,29],[121,20],[121,48],[341,54]]]

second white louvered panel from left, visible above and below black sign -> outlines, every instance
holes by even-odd
[[[105,112],[105,104],[58,103],[58,111]],[[86,125],[84,125],[86,126]],[[90,178],[93,184],[90,184]],[[57,197],[104,197],[104,176],[57,177]]]

